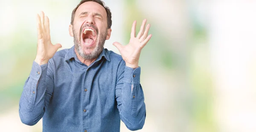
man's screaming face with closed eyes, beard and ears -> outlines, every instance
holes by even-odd
[[[70,25],[70,35],[74,37],[76,52],[81,57],[85,60],[98,57],[110,33],[107,12],[103,6],[89,1],[78,7],[74,23]]]

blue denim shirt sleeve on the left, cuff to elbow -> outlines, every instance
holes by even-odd
[[[49,64],[35,61],[20,96],[19,115],[22,123],[35,125],[44,115],[53,92],[53,76]]]

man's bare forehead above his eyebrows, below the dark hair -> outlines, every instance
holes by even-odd
[[[99,3],[96,3],[93,1],[82,3],[76,10],[76,14],[79,15],[82,12],[98,13],[98,14],[101,14],[103,17],[107,16],[107,12],[105,8]]]

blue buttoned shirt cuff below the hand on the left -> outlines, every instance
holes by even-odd
[[[38,63],[33,61],[30,77],[32,77],[34,80],[39,80],[40,77],[42,79],[45,79],[46,73],[47,73],[47,67],[48,67],[48,63],[40,66]]]

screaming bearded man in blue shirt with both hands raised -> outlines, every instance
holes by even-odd
[[[49,19],[37,14],[38,46],[31,73],[20,97],[24,124],[43,118],[44,132],[118,132],[120,118],[128,129],[142,129],[145,103],[138,60],[151,38],[143,20],[136,21],[126,46],[113,43],[120,55],[104,49],[111,36],[111,11],[101,0],[82,0],[73,10],[71,49],[52,45]]]

